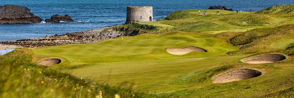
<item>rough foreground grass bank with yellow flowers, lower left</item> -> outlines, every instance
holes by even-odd
[[[101,85],[86,78],[60,73],[30,63],[32,57],[21,50],[0,56],[1,98],[123,98],[157,97],[133,92],[131,87],[122,89]]]

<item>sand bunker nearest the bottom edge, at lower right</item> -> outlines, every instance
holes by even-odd
[[[261,72],[249,69],[234,70],[218,76],[213,83],[226,83],[260,76]]]

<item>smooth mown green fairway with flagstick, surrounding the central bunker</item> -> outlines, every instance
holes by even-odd
[[[186,46],[201,47],[208,52],[172,55],[166,51],[167,48]],[[52,66],[57,70],[99,82],[110,81],[113,85],[129,81],[134,82],[138,89],[152,89],[152,85],[169,81],[181,74],[218,67],[220,65],[211,64],[223,59],[211,56],[225,55],[226,52],[235,50],[238,47],[216,38],[176,32],[162,35],[142,34],[94,44],[46,47],[33,49],[33,52],[46,58],[60,57],[63,61],[70,62]]]

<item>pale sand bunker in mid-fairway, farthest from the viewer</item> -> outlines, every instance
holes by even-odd
[[[174,54],[174,55],[183,55],[183,54],[187,54],[187,53],[193,52],[193,51],[207,52],[206,49],[202,49],[202,48],[195,47],[195,46],[189,46],[189,47],[185,47],[185,48],[169,48],[169,49],[167,49],[167,51],[171,54]]]

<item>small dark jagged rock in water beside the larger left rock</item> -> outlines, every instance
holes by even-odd
[[[71,16],[69,15],[53,15],[51,16],[51,19],[46,19],[45,20],[46,23],[60,23],[60,22],[74,22],[73,19],[71,18]]]

